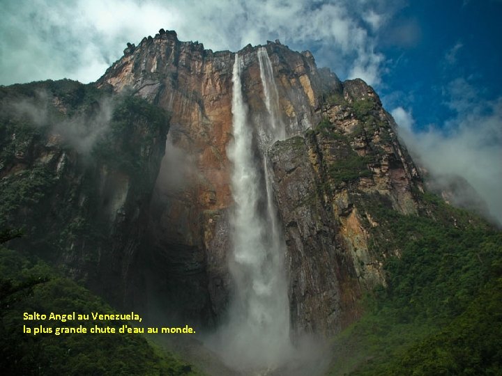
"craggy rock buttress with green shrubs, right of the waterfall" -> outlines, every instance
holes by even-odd
[[[344,82],[319,113],[314,130],[276,143],[269,157],[287,241],[291,321],[326,334],[358,317],[362,292],[385,284],[387,255],[370,247],[378,224],[361,199],[378,192],[410,214],[422,187],[392,118],[363,81]]]

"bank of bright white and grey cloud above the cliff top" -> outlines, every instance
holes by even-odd
[[[0,84],[96,80],[126,42],[161,28],[213,50],[236,51],[279,38],[292,48],[315,49],[319,65],[342,78],[378,84],[384,59],[375,52],[373,33],[387,19],[378,6],[351,0],[12,1],[3,7],[0,25]]]

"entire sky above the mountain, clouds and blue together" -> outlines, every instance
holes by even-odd
[[[0,0],[0,84],[94,81],[158,29],[237,51],[279,38],[374,86],[413,157],[502,221],[501,0]]]

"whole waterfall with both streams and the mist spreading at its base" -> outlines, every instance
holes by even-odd
[[[242,62],[236,54],[231,102],[234,140],[227,149],[233,164],[229,255],[233,288],[226,322],[205,342],[227,366],[246,375],[317,375],[327,366],[322,360],[328,359],[325,347],[313,337],[290,337],[286,244],[266,162],[268,148],[286,134],[266,49],[261,47],[257,57],[268,121],[257,125],[249,120],[241,87]]]

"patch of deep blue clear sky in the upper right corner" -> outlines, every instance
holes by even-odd
[[[502,94],[502,2],[413,1],[389,22],[381,52],[389,70],[381,95],[388,107],[413,109],[417,128],[455,116],[448,106],[448,84],[464,79],[485,100]],[[407,42],[392,41],[393,31],[413,24]]]

